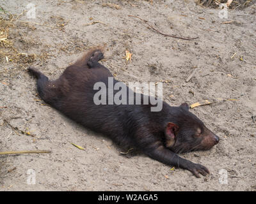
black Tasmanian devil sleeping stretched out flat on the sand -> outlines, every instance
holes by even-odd
[[[54,81],[35,68],[30,67],[28,71],[38,79],[40,97],[70,119],[103,133],[122,147],[140,149],[152,159],[189,170],[196,177],[207,175],[209,170],[205,166],[177,155],[208,150],[219,142],[218,136],[189,112],[187,103],[170,106],[163,101],[159,112],[152,112],[150,108],[154,105],[143,104],[142,97],[140,105],[108,104],[108,99],[105,105],[95,104],[93,96],[97,90],[93,86],[103,82],[108,88],[108,78],[113,77],[108,68],[99,63],[102,58],[102,49],[93,48]],[[117,82],[113,79],[113,84]]]

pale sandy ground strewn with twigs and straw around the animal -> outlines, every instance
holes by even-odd
[[[0,149],[52,153],[0,156],[0,191],[255,191],[254,3],[220,18],[220,10],[194,1],[34,0],[36,18],[29,18],[30,2],[0,3],[0,34],[7,38],[0,44]],[[199,38],[166,37],[128,15],[148,20],[163,33]],[[108,138],[40,101],[26,68],[33,65],[58,78],[95,45],[106,45],[102,64],[118,80],[170,80],[163,90],[170,105],[236,99],[191,110],[220,136],[220,143],[209,151],[180,156],[203,164],[210,175],[196,179],[187,170],[171,170],[143,154],[124,156]],[[129,63],[125,50],[132,53]]]

